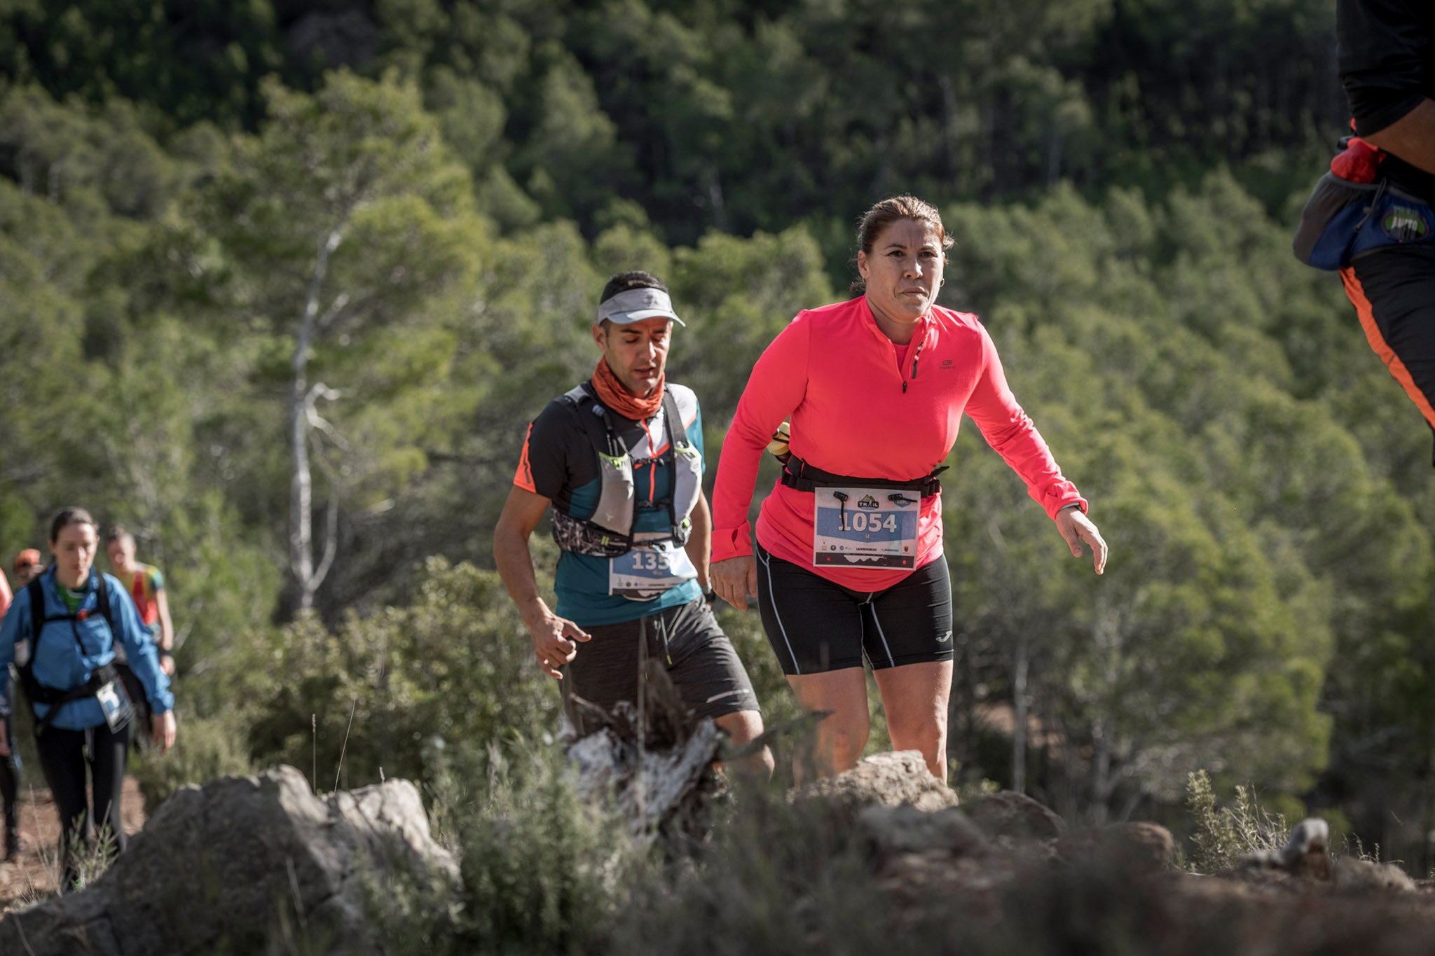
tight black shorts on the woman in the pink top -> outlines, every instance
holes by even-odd
[[[758,609],[788,675],[862,666],[874,671],[951,659],[947,559],[923,565],[885,591],[851,591],[761,545]]]

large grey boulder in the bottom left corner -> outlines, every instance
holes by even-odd
[[[364,877],[403,867],[456,880],[406,780],[316,797],[278,767],[185,787],[80,893],[0,922],[0,953],[264,952],[280,914],[331,952],[377,953]]]

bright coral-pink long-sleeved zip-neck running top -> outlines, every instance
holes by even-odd
[[[715,562],[752,553],[748,506],[763,449],[792,417],[791,450],[811,466],[857,477],[926,477],[957,440],[961,413],[1026,482],[1052,517],[1086,500],[1062,477],[1046,441],[1006,384],[976,315],[934,305],[910,345],[877,327],[865,297],[798,312],[752,368],[723,441],[713,490]],[[949,472],[947,476],[951,473]],[[946,477],[946,476],[944,476]],[[812,565],[812,494],[781,483],[762,503],[758,542],[854,591],[881,591],[911,569]],[[941,555],[941,496],[921,502],[917,568]]]

